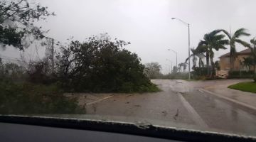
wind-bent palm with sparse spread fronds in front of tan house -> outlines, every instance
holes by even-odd
[[[241,45],[245,47],[249,47],[250,44],[240,40],[239,38],[242,35],[249,36],[250,33],[246,33],[245,28],[239,28],[235,33],[232,35],[231,33],[228,33],[228,31],[222,30],[225,35],[228,36],[229,42],[230,42],[230,70],[232,71],[234,69],[234,62],[236,58],[236,49],[235,49],[235,43],[240,43]]]

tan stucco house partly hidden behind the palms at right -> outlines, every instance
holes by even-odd
[[[250,48],[247,48],[245,50],[242,50],[237,53],[237,58],[235,58],[234,62],[234,71],[240,71],[240,70],[248,70],[247,67],[244,65],[241,65],[240,62],[242,62],[244,59],[251,55]],[[218,77],[227,77],[228,71],[230,71],[230,53],[226,53],[224,55],[221,55],[220,57],[220,70],[216,71],[216,75]],[[250,67],[249,70],[253,70],[253,66]]]

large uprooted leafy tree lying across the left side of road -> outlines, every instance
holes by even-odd
[[[92,36],[81,43],[72,41],[58,53],[58,77],[76,92],[152,92],[157,87],[144,75],[144,65],[129,43]]]

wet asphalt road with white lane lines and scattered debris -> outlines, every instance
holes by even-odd
[[[90,116],[256,136],[255,112],[204,92],[204,82],[152,80],[162,91],[115,94],[86,107]],[[210,85],[210,84],[208,84]]]

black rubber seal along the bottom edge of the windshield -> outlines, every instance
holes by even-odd
[[[0,122],[11,124],[27,124],[50,126],[65,129],[81,129],[90,131],[105,131],[125,133],[137,136],[165,138],[178,141],[256,141],[252,136],[240,136],[228,133],[215,133],[190,129],[156,125],[138,125],[121,121],[102,121],[94,119],[70,119],[49,116],[1,115]]]

